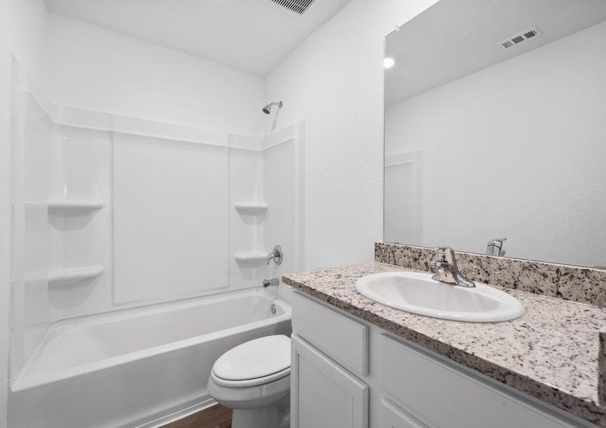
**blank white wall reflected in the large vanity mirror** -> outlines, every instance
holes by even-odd
[[[423,151],[400,242],[606,265],[605,52],[606,22],[387,108],[385,155]]]

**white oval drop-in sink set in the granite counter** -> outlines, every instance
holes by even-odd
[[[383,305],[443,320],[500,322],[524,315],[520,300],[490,285],[476,282],[466,288],[431,277],[422,272],[381,272],[361,277],[355,289]]]

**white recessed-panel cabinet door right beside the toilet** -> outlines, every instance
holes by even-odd
[[[368,385],[296,335],[292,337],[291,427],[368,427]]]

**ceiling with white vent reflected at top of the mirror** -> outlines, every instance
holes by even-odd
[[[606,20],[605,0],[442,0],[387,38],[385,105],[536,49]],[[541,36],[495,46],[532,26]]]

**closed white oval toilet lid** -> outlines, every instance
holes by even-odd
[[[248,380],[267,377],[291,367],[291,339],[267,336],[238,345],[221,355],[213,366],[216,377]]]

